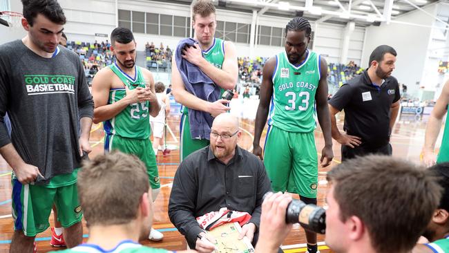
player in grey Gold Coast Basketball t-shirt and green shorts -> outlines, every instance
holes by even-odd
[[[57,46],[66,23],[59,3],[22,3],[28,35],[0,46],[0,154],[14,171],[10,252],[33,251],[53,203],[66,245],[74,247],[82,242],[77,168],[83,151],[90,151],[93,100],[79,57]],[[6,112],[11,138],[2,124]]]

